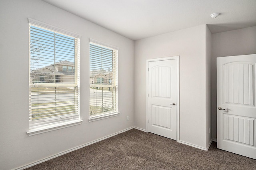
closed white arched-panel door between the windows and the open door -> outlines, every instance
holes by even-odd
[[[148,62],[148,132],[176,140],[177,59]]]

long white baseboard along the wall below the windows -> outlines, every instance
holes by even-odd
[[[122,131],[120,131],[120,132],[116,132],[116,133],[114,133],[114,134],[110,134],[110,135],[105,136],[105,137],[103,137],[103,138],[100,138],[100,139],[94,140],[94,141],[92,141],[92,142],[89,142],[89,143],[83,144],[83,145],[81,145],[81,146],[77,146],[77,147],[75,147],[75,148],[72,148],[72,149],[66,150],[66,151],[64,151],[64,152],[61,152],[61,153],[59,153],[59,154],[56,154],[56,155],[50,156],[50,157],[48,157],[48,158],[44,158],[44,159],[42,159],[42,160],[36,161],[36,162],[34,162],[34,163],[32,163],[32,164],[28,164],[28,165],[26,165],[26,166],[22,166],[22,167],[20,167],[20,168],[17,168],[16,170],[23,170],[23,169],[29,168],[29,167],[31,167],[31,166],[34,166],[34,165],[40,164],[40,163],[45,162],[45,161],[47,161],[47,160],[50,160],[50,159],[56,158],[56,157],[58,157],[58,156],[61,156],[61,155],[67,154],[67,153],[69,153],[69,152],[72,152],[72,151],[74,151],[74,150],[78,150],[78,149],[83,148],[83,147],[85,147],[85,146],[88,146],[88,145],[90,145],[90,144],[94,144],[94,143],[96,143],[96,142],[100,142],[101,140],[104,140],[104,139],[110,138],[110,137],[112,137],[112,136],[115,136],[115,135],[117,135],[117,134],[120,134],[120,133],[126,132],[126,131],[128,131],[128,130],[133,129],[133,128],[134,128],[134,127],[130,127],[130,128],[124,129],[124,130],[122,130]],[[139,129],[139,130],[140,130],[140,129]]]

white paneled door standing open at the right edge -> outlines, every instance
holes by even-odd
[[[255,64],[256,54],[217,58],[217,148],[254,159]]]

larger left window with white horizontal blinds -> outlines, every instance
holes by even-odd
[[[80,121],[80,39],[31,22],[29,38],[30,131]],[[64,72],[63,64],[74,65],[74,71]]]

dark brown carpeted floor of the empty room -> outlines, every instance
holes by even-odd
[[[132,129],[26,170],[256,170],[256,160]]]

